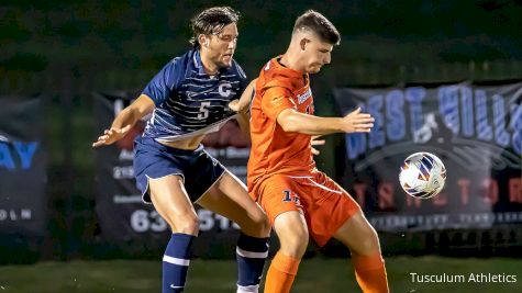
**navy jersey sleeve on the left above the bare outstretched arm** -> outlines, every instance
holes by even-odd
[[[156,74],[143,90],[143,94],[153,99],[156,105],[162,104],[168,99],[170,92],[176,90],[176,83],[180,80],[179,65],[180,58],[174,58],[165,67]]]

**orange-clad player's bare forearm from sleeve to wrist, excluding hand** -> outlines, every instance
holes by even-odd
[[[341,117],[319,117],[303,113],[281,113],[277,119],[285,132],[296,132],[308,135],[325,135],[343,132]]]

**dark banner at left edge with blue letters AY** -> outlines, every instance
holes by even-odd
[[[42,100],[1,100],[0,235],[43,237],[47,226],[47,178],[42,147]],[[0,243],[3,240],[9,239],[0,237]]]

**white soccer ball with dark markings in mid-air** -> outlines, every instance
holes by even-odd
[[[418,199],[435,196],[446,182],[446,167],[430,153],[415,153],[406,158],[399,174],[402,189]]]

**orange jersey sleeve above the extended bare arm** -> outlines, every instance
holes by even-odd
[[[262,111],[268,119],[276,121],[279,113],[286,109],[297,110],[292,93],[282,87],[273,87],[265,91],[262,98]]]

